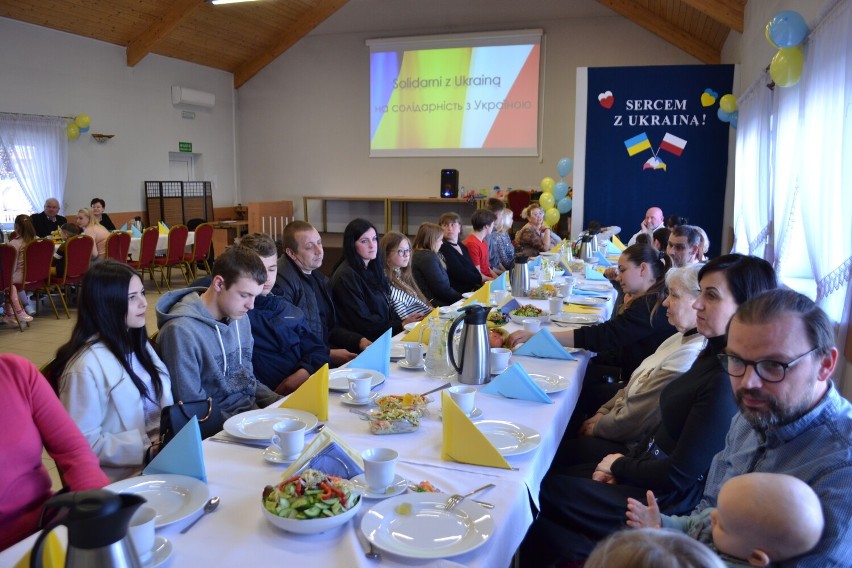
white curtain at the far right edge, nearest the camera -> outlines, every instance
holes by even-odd
[[[841,1],[811,33],[801,89],[802,224],[817,303],[846,328],[852,274],[852,2]]]

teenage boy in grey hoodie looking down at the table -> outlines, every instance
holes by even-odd
[[[175,401],[213,397],[227,419],[281,398],[254,376],[251,324],[243,317],[264,282],[257,253],[232,246],[216,258],[209,287],[168,292],[157,302],[157,343]]]

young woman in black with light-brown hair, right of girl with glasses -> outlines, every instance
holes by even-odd
[[[426,299],[434,306],[449,306],[462,299],[461,293],[450,286],[450,277],[441,258],[444,231],[435,223],[423,223],[414,237],[411,270],[414,281]]]

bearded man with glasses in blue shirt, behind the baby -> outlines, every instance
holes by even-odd
[[[830,380],[837,364],[828,316],[792,290],[765,292],[737,310],[719,355],[740,413],[713,459],[704,499],[753,471],[786,473],[810,485],[825,531],[810,553],[779,566],[852,566],[852,405]]]

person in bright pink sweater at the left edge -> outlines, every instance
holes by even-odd
[[[109,479],[86,438],[38,369],[23,357],[0,355],[0,550],[36,530],[53,495],[42,464],[47,449],[71,491],[98,489]]]

